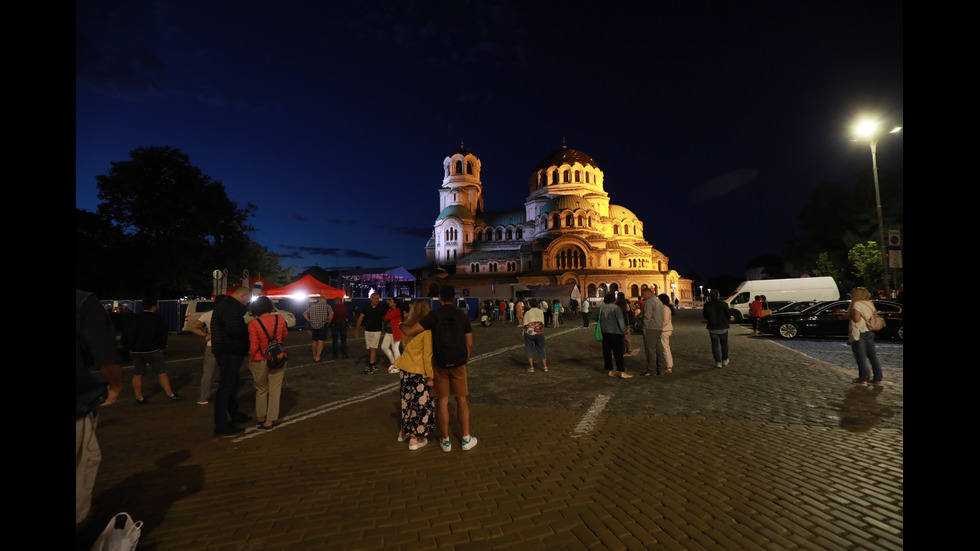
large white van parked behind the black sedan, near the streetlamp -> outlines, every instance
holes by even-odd
[[[832,277],[799,277],[789,279],[754,279],[743,281],[728,297],[732,321],[749,317],[749,303],[756,295],[765,295],[770,310],[776,310],[800,300],[837,300],[840,290]]]

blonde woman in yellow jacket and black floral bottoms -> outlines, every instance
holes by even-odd
[[[417,300],[408,312],[408,325],[415,325],[429,315],[429,301]],[[401,430],[398,441],[408,437],[408,449],[417,450],[428,444],[428,435],[435,424],[435,402],[429,389],[435,374],[432,371],[432,331],[422,331],[414,337],[403,336],[405,352],[398,358],[401,373]]]

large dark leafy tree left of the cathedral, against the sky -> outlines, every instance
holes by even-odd
[[[250,237],[256,207],[229,199],[224,184],[179,149],[137,148],[130,160],[113,162],[96,181],[102,201],[98,214],[117,238],[111,268],[116,283],[110,294],[205,295],[215,268],[232,274],[246,268],[267,274],[281,270],[278,255]]]

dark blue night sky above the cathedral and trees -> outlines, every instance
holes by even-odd
[[[671,268],[740,277],[814,186],[870,166],[859,114],[903,124],[903,6],[95,0],[75,71],[78,208],[111,162],[167,145],[258,206],[284,265],[413,268],[461,140],[487,210],[522,208],[564,141]]]

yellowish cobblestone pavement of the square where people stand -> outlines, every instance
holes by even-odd
[[[360,374],[363,340],[351,360],[314,364],[303,332],[287,342],[282,425],[214,438],[210,406],[194,403],[203,346],[172,337],[187,400],[157,388],[136,407],[127,388],[103,408],[95,511],[77,547],[120,511],[144,521],[142,549],[903,547],[900,352],[883,389],[858,387],[850,363],[733,327],[718,369],[700,311],[687,310],[674,374],[639,376],[635,338],[637,376],[619,379],[580,325],[547,330],[547,373],[526,371],[515,327],[474,327],[479,444],[460,451],[454,419],[451,453],[395,441],[397,376]]]

